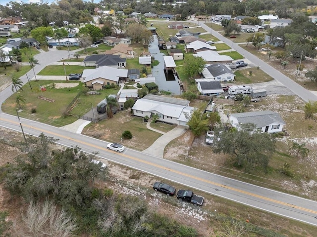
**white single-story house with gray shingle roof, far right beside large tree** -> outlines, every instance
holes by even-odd
[[[279,114],[269,110],[232,114],[229,120],[236,128],[239,124],[254,123],[256,128],[268,133],[281,132],[286,124]]]

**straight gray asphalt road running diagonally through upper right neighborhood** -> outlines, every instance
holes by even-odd
[[[218,38],[219,40],[223,41],[227,45],[231,46],[232,49],[236,50],[238,53],[243,55],[245,58],[247,58],[249,61],[251,61],[256,66],[260,66],[260,68],[269,76],[276,79],[280,83],[282,83],[285,87],[290,89],[294,94],[298,95],[300,98],[302,98],[304,101],[317,101],[317,96],[314,95],[309,90],[305,89],[303,86],[297,84],[292,79],[286,77],[284,74],[280,73],[275,68],[271,67],[267,63],[263,62],[258,57],[254,56],[252,53],[249,53],[244,48],[240,47],[237,43],[232,42],[231,40],[228,40],[227,38],[223,37],[218,32],[212,30],[210,27],[206,26],[203,22],[196,22],[191,21],[195,23],[199,23],[200,26],[202,26],[203,29],[205,29],[207,32],[211,32],[213,36]]]

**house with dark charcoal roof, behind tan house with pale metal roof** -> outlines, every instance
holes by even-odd
[[[109,66],[112,68],[125,68],[126,66],[126,58],[120,58],[120,55],[112,55],[112,54],[93,54],[87,56],[84,59],[85,67],[103,67]]]

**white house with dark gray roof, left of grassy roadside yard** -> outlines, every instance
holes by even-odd
[[[204,78],[215,79],[217,81],[233,81],[234,73],[224,64],[214,63],[203,69]]]

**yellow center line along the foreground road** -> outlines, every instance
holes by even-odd
[[[14,123],[14,124],[19,124],[18,122],[11,121],[11,120],[8,120],[8,119],[5,119],[5,118],[0,118],[0,120],[4,120],[4,121],[10,122],[10,123]],[[23,126],[31,128],[31,129],[34,129],[34,130],[37,130],[37,131],[40,131],[40,132],[43,132],[43,133],[49,133],[49,134],[55,135],[57,137],[62,137],[64,139],[68,139],[68,140],[74,141],[76,143],[84,144],[86,146],[90,146],[90,147],[93,147],[93,148],[96,148],[96,149],[101,149],[101,150],[104,150],[104,151],[107,151],[107,152],[111,152],[113,154],[117,154],[117,152],[109,151],[108,149],[106,149],[104,147],[99,147],[99,146],[96,146],[96,145],[91,144],[91,143],[87,143],[87,142],[83,142],[81,140],[77,140],[77,139],[74,139],[74,138],[63,136],[63,135],[60,135],[60,134],[55,133],[55,132],[50,132],[50,131],[47,131],[47,130],[44,130],[44,129],[41,129],[41,128],[30,126],[28,124],[24,124]],[[243,190],[240,190],[240,189],[229,187],[227,185],[218,184],[218,183],[212,182],[210,180],[199,178],[199,177],[196,177],[194,175],[183,173],[183,172],[180,172],[180,171],[177,171],[177,170],[173,170],[171,168],[168,168],[168,167],[165,167],[165,166],[162,166],[162,165],[159,165],[159,164],[155,164],[155,163],[147,161],[147,160],[135,158],[135,157],[132,157],[132,156],[129,156],[129,155],[126,155],[126,154],[120,154],[120,156],[123,156],[123,157],[126,157],[126,158],[130,158],[130,159],[133,159],[133,160],[145,163],[145,164],[149,164],[151,166],[155,166],[155,167],[158,167],[158,168],[161,168],[161,169],[164,169],[164,170],[176,173],[176,174],[180,174],[180,175],[183,175],[183,176],[195,179],[195,180],[199,180],[199,181],[202,181],[202,182],[205,182],[205,183],[208,183],[208,184],[212,184],[212,185],[215,185],[215,186],[218,186],[218,187],[221,187],[221,188],[225,188],[225,189],[232,190],[232,191],[235,191],[235,192],[238,192],[238,193],[246,194],[246,195],[249,195],[251,197],[258,197],[258,198],[261,198],[261,199],[264,199],[264,200],[267,200],[267,201],[271,201],[271,202],[275,202],[275,203],[278,203],[278,204],[281,204],[281,205],[284,205],[284,206],[288,206],[288,207],[292,207],[292,208],[295,208],[295,209],[304,210],[304,211],[307,211],[307,212],[311,212],[311,213],[317,214],[317,211],[314,211],[314,210],[311,210],[311,209],[308,209],[308,208],[296,206],[294,204],[286,203],[286,202],[283,202],[283,201],[278,201],[278,200],[275,200],[275,199],[272,199],[272,198],[268,198],[268,197],[263,197],[261,195],[257,195],[257,194],[249,193],[249,192],[246,192],[246,191],[243,191]]]

